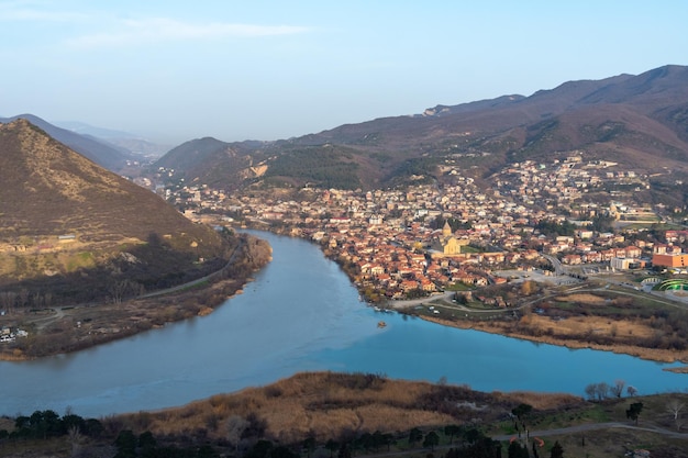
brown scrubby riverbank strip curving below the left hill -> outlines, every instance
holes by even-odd
[[[240,294],[251,276],[271,259],[269,244],[242,235],[228,265],[200,280],[148,293],[121,303],[77,304],[24,311],[3,316],[0,324],[29,331],[29,337],[0,347],[0,360],[27,360],[67,354],[204,316]]]

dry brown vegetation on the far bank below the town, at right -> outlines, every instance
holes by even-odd
[[[569,348],[595,348],[643,359],[688,361],[688,311],[670,298],[588,280],[574,286],[523,283],[457,292],[456,301],[429,298],[440,314],[407,313],[440,324],[475,328]],[[486,308],[474,295],[504,298],[513,306]],[[468,299],[467,299],[468,298]],[[458,305],[457,305],[458,304]]]

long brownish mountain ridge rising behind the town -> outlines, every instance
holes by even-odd
[[[530,97],[436,105],[418,115],[278,142],[202,138],[171,149],[156,166],[174,169],[187,182],[225,188],[374,188],[409,177],[441,178],[439,165],[448,157],[465,163],[466,174],[484,178],[511,161],[570,150],[630,168],[688,166],[688,67],[568,81]],[[319,168],[318,159],[326,167]]]

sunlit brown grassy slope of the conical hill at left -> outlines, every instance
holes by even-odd
[[[18,306],[170,286],[215,270],[232,245],[24,120],[0,125],[0,286]]]

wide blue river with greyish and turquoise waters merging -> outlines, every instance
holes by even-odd
[[[274,260],[209,316],[77,354],[0,362],[0,414],[162,409],[307,370],[577,395],[618,379],[641,394],[688,387],[688,375],[663,370],[669,365],[376,313],[318,246],[257,235],[269,241]],[[380,320],[387,327],[377,327]]]

